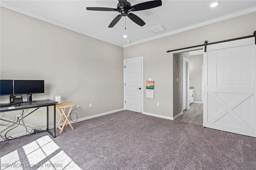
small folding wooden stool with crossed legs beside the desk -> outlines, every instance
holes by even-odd
[[[64,126],[68,127],[68,126],[66,125],[66,122],[67,122],[67,121],[68,121],[68,124],[70,125],[70,127],[72,128],[72,130],[74,130],[74,128],[72,127],[70,121],[68,120],[68,117],[69,117],[69,115],[70,115],[70,112],[71,112],[73,106],[74,106],[73,103],[68,103],[68,102],[63,102],[63,103],[60,103],[60,104],[56,104],[56,109],[57,109],[57,111],[58,111],[58,113],[59,113],[59,115],[60,115],[60,120],[59,120],[58,124],[56,125],[56,129],[57,129],[57,128],[60,129],[60,134],[62,133],[62,130],[63,130]],[[68,107],[70,107],[70,109],[69,109],[69,111],[68,111],[68,115],[66,115],[66,114],[65,114],[65,110],[66,110],[66,108],[68,108]],[[61,111],[61,113],[60,113],[60,111]],[[65,120],[64,120],[64,119],[65,119]],[[62,127],[59,126],[61,120],[64,122],[64,124],[63,124]]]

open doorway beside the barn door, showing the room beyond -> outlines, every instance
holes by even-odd
[[[203,125],[203,51],[202,47],[193,50],[178,51],[178,53],[173,54],[173,113],[176,121]],[[178,79],[182,81],[178,82]]]

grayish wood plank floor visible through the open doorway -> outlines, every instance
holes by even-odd
[[[177,117],[175,121],[203,125],[203,104],[190,103],[190,109],[184,110],[183,114]]]

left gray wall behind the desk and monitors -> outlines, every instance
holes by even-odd
[[[80,105],[78,119],[123,108],[122,47],[2,7],[0,40],[1,79],[45,81],[45,93],[33,95],[33,100],[61,95],[62,102]],[[23,98],[26,101],[26,95]],[[1,103],[8,101],[9,97],[1,97]],[[18,113],[4,117],[15,119]],[[45,118],[45,114],[31,115],[24,121],[44,127]],[[19,127],[11,133],[24,130]]]

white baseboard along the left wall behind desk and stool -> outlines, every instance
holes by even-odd
[[[80,119],[77,119],[76,122],[80,122],[80,121],[84,121],[84,120],[87,120],[87,119],[92,119],[94,117],[100,117],[100,116],[103,116],[103,115],[108,115],[110,113],[115,113],[115,112],[118,112],[118,111],[123,111],[124,108],[122,109],[117,109],[117,110],[114,110],[114,111],[109,111],[109,112],[105,112],[105,113],[100,113],[100,114],[97,114],[97,115],[92,115],[92,116],[88,116],[88,117],[83,117],[83,118],[80,118]],[[76,123],[76,122],[73,122],[73,121],[70,121],[70,123]],[[62,126],[64,123],[60,123],[60,126]],[[66,123],[66,125],[68,125],[68,122]],[[49,129],[53,128],[53,125],[50,125],[49,126]],[[41,127],[42,130],[46,130],[46,127]],[[26,135],[27,133],[26,132],[21,132],[21,133],[18,133],[18,134],[12,134],[12,137],[13,138],[18,138],[20,136],[24,136]],[[0,138],[0,142],[4,141],[3,138]]]

